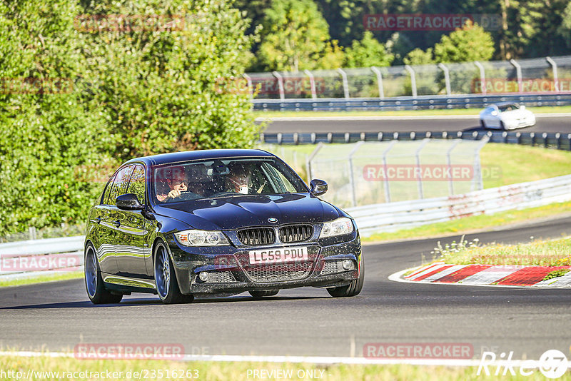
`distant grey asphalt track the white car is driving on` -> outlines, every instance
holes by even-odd
[[[542,116],[536,114],[535,126],[520,128],[521,132],[571,133],[571,116]],[[336,119],[336,120],[335,120]],[[485,131],[477,116],[438,117],[354,117],[354,118],[278,118],[268,122],[266,133],[328,133],[328,132],[426,132],[426,131]],[[490,130],[493,131],[493,130]]]

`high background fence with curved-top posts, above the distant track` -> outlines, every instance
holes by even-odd
[[[274,71],[247,73],[245,78],[255,101],[571,93],[571,56],[461,64]]]

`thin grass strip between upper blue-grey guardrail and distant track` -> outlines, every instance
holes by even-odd
[[[483,108],[452,108],[437,110],[403,111],[254,111],[256,118],[308,117],[308,116],[448,116],[477,115]],[[571,113],[571,106],[529,107],[533,113]]]

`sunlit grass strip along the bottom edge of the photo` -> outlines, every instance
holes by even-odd
[[[2,356],[0,357],[0,370],[4,372],[19,371],[22,376],[26,377],[29,370],[34,372],[121,372],[114,374],[111,379],[119,380],[138,380],[141,375],[142,380],[260,380],[253,377],[253,370],[290,370],[293,377],[287,380],[418,380],[418,381],[455,381],[455,380],[497,380],[498,376],[494,376],[495,367],[489,367],[490,376],[485,376],[483,371],[481,375],[477,375],[477,367],[433,367],[433,366],[415,366],[415,365],[311,365],[311,364],[289,364],[289,363],[273,363],[273,362],[176,362],[176,361],[157,361],[157,360],[76,360],[70,357],[17,357]],[[158,370],[162,370],[163,377],[158,377]],[[196,372],[195,372],[196,370]],[[323,371],[318,375],[323,378],[298,377],[302,376],[301,372],[305,370]],[[150,377],[155,372],[155,377]],[[176,371],[176,376],[173,371]],[[198,373],[198,378],[178,377],[189,371],[188,375],[192,376]],[[248,371],[250,373],[248,374]],[[131,377],[126,377],[129,375]],[[135,374],[138,372],[138,375]],[[170,378],[167,378],[167,372]],[[536,370],[530,376],[522,376],[515,368],[516,376],[503,376],[502,380],[525,380],[536,381],[545,380],[545,377]],[[85,374],[83,377],[64,378],[59,380],[87,380],[89,376]],[[148,377],[146,378],[145,375]],[[119,376],[119,377],[117,377]],[[249,377],[248,377],[249,376]],[[24,379],[24,378],[21,378]],[[57,380],[52,374],[51,377],[33,377],[34,380]],[[10,380],[6,376],[0,380]],[[12,378],[15,380],[15,377]],[[91,380],[104,380],[104,378],[96,377],[91,374]],[[109,380],[109,378],[107,378]],[[266,380],[284,380],[280,378],[266,378]],[[558,380],[571,380],[571,372]]]

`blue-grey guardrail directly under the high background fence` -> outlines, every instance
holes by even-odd
[[[484,108],[512,101],[525,106],[568,106],[571,94],[400,96],[395,98],[253,99],[254,110],[268,111],[398,111],[435,108]]]

